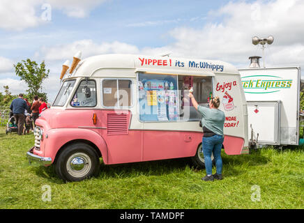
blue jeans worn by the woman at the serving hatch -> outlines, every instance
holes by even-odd
[[[212,174],[212,160],[211,155],[215,160],[216,172],[222,174],[222,157],[220,152],[222,151],[222,143],[224,141],[224,136],[220,134],[215,134],[212,137],[203,137],[202,149],[204,153],[205,167],[207,175]]]

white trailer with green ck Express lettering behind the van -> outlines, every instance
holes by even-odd
[[[259,144],[298,145],[301,68],[239,69],[248,103],[248,139]]]

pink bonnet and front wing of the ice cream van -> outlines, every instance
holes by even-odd
[[[93,114],[96,110],[61,110],[47,109],[37,119],[36,125],[43,128],[43,140],[40,151],[33,150],[35,155],[56,157],[59,149],[73,140],[83,139],[95,144],[107,164],[107,145],[100,131],[93,125]],[[46,137],[47,135],[47,137]]]

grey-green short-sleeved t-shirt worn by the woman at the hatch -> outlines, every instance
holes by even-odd
[[[224,135],[225,113],[220,109],[209,109],[199,105],[197,111],[202,114],[202,126],[208,128],[215,134]]]

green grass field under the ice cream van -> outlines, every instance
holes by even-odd
[[[6,135],[0,128],[0,208],[304,208],[303,148],[222,151],[225,178],[214,182],[201,180],[204,169],[175,159],[101,164],[97,178],[63,183],[53,167],[29,165],[32,145],[33,134]],[[51,201],[42,200],[43,185],[50,186]],[[260,201],[251,199],[253,185]]]

